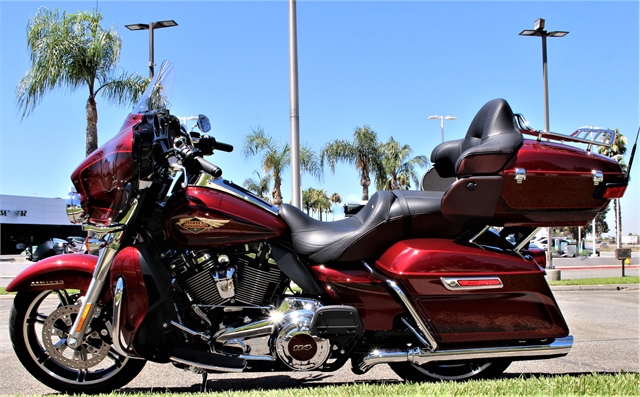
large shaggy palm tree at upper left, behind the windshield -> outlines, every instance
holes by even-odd
[[[100,26],[101,20],[102,15],[95,11],[60,15],[57,9],[38,9],[27,26],[31,68],[17,87],[18,108],[24,118],[48,92],[87,86],[87,155],[98,148],[98,93],[118,105],[132,104],[149,82],[136,74],[115,75],[122,42],[113,27]]]

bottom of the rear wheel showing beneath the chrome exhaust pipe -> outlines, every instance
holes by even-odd
[[[441,380],[490,379],[503,373],[511,361],[478,361],[458,363],[429,363],[416,365],[409,362],[390,363],[389,366],[404,380],[412,382]]]

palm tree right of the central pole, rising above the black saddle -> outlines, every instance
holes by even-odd
[[[369,200],[369,185],[372,172],[377,175],[382,169],[380,145],[378,135],[370,126],[356,128],[353,142],[336,139],[327,143],[320,154],[320,163],[324,166],[325,159],[329,162],[331,172],[336,171],[336,162],[345,161],[356,166],[362,186],[362,200]]]

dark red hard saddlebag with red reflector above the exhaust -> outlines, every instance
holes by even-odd
[[[402,286],[443,345],[539,342],[569,334],[533,258],[414,239],[396,243],[376,267]]]

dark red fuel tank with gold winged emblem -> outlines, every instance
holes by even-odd
[[[259,242],[288,230],[277,207],[208,174],[174,193],[164,211],[167,238],[187,248]]]

